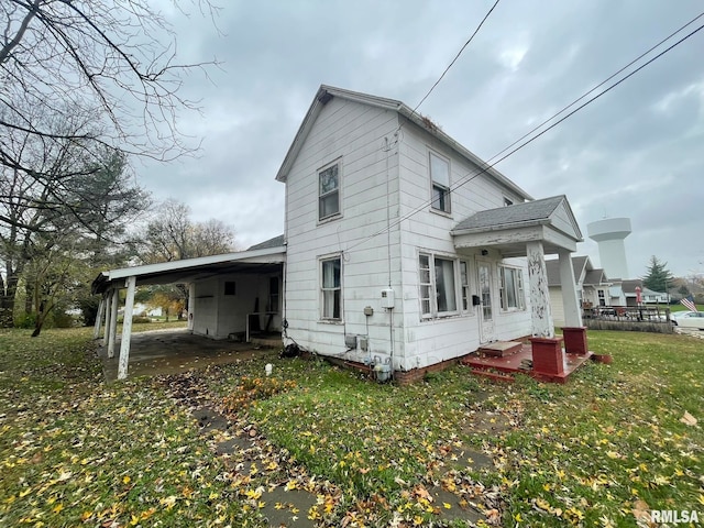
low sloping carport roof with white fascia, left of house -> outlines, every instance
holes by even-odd
[[[136,277],[136,284],[190,283],[226,273],[273,273],[286,260],[283,245],[258,250],[224,253],[221,255],[185,258],[183,261],[145,264],[102,272],[92,282],[92,293],[102,294],[111,287],[124,287],[127,277]]]

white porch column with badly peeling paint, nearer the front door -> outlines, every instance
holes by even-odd
[[[527,242],[526,255],[528,257],[532,336],[537,338],[552,338],[554,337],[554,326],[552,323],[552,311],[550,310],[548,272],[546,271],[542,242]]]

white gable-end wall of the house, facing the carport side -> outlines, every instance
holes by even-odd
[[[286,314],[287,334],[307,350],[353,361],[391,353],[391,315],[381,308],[381,289],[389,282],[388,255],[397,262],[398,183],[396,148],[383,151],[384,138],[393,141],[397,114],[332,98],[321,110],[286,182]],[[318,221],[318,172],[340,158],[342,218]],[[388,169],[387,169],[388,167]],[[319,258],[342,253],[342,321],[321,320]],[[392,285],[398,292],[397,265]],[[374,315],[364,316],[371,306]],[[397,301],[395,311],[402,311]],[[366,334],[370,351],[346,352],[345,334]],[[397,324],[400,321],[397,321]],[[395,341],[402,332],[396,332]]]

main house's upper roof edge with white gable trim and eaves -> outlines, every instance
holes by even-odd
[[[442,143],[449,146],[451,150],[457,152],[460,156],[468,160],[470,163],[479,167],[483,167],[486,165],[486,163],[482,161],[479,156],[470,152],[468,148],[465,148],[460,143],[454,141],[452,138],[450,138],[448,134],[442,132],[438,127],[433,125],[427,118],[424,118],[418,112],[415,112],[409,107],[404,105],[402,101],[398,101],[396,99],[386,99],[383,97],[371,96],[369,94],[362,94],[359,91],[351,91],[342,88],[336,88],[333,86],[320,85],[320,88],[316,92],[316,97],[314,98],[312,103],[310,105],[310,108],[306,113],[306,117],[304,118],[302,122],[300,123],[300,127],[298,128],[298,132],[296,132],[294,142],[288,148],[288,152],[286,153],[286,157],[284,157],[284,162],[282,163],[282,166],[278,169],[278,173],[276,174],[276,179],[278,182],[284,182],[284,183],[286,182],[286,178],[288,177],[288,172],[290,170],[290,167],[296,161],[296,157],[298,156],[300,148],[302,147],[304,142],[306,141],[306,138],[310,133],[310,130],[312,129],[312,125],[316,122],[316,119],[320,114],[320,111],[322,110],[322,108],[333,97],[339,97],[341,99],[359,102],[362,105],[367,105],[367,106],[380,108],[383,110],[396,111],[400,116],[408,119],[411,123],[421,128],[429,134],[436,136]],[[487,168],[485,173],[490,177],[493,177],[495,180],[497,180],[501,185],[503,185],[504,187],[508,188],[509,190],[518,195],[520,198],[525,200],[532,200],[532,197],[528,195],[528,193],[526,193],[524,189],[521,189],[519,186],[517,186],[515,183],[513,183],[510,179],[508,179],[497,169]]]

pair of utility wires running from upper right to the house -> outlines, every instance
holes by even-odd
[[[652,51],[654,47],[658,47],[659,45],[661,45],[663,42],[666,42],[667,40],[671,38],[674,34],[679,33],[680,31],[682,31],[684,28],[691,25],[694,21],[696,21],[697,19],[700,19],[701,16],[704,16],[704,13],[701,13],[700,15],[695,16],[694,19],[692,19],[690,22],[688,22],[686,24],[684,24],[682,28],[680,28],[678,31],[675,31],[674,33],[672,33],[670,36],[668,36],[667,38],[662,40],[660,43],[658,43],[656,46],[651,47],[648,52],[646,52],[645,54],[641,54],[637,59],[631,61],[627,66],[625,66],[624,68],[619,69],[616,74],[609,76],[606,80],[604,80],[603,82],[598,84],[596,87],[592,88],[591,90],[588,90],[587,92],[585,92],[583,96],[581,96],[580,98],[575,99],[574,102],[568,105],[565,108],[563,108],[562,110],[560,110],[558,113],[556,113],[554,116],[552,116],[551,118],[549,118],[548,120],[546,120],[543,123],[539,124],[538,127],[536,127],[535,129],[532,129],[530,132],[528,132],[527,134],[525,134],[522,138],[518,139],[517,141],[515,141],[514,143],[512,143],[510,145],[508,145],[506,148],[504,148],[503,151],[501,151],[498,154],[494,155],[493,157],[490,158],[494,160],[497,156],[499,156],[502,153],[506,152],[507,150],[509,150],[512,146],[514,146],[516,143],[520,142],[521,140],[524,140],[526,136],[532,134],[536,130],[540,129],[543,124],[546,124],[547,122],[553,120],[556,117],[560,116],[561,113],[563,113],[568,108],[572,107],[575,102],[584,99],[584,97],[586,97],[588,94],[591,94],[592,91],[594,91],[596,88],[598,88],[600,86],[603,86],[605,82],[607,82],[609,79],[614,78],[616,75],[618,75],[618,73],[623,72],[625,68],[627,68],[628,66],[630,66],[631,64],[634,64],[635,62],[637,62],[639,58],[641,58],[644,55],[647,55],[648,53],[650,53],[650,51]],[[625,80],[627,80],[628,78],[632,77],[634,75],[636,75],[638,72],[640,72],[641,69],[644,69],[646,66],[650,65],[651,63],[653,63],[654,61],[657,61],[658,58],[660,58],[661,56],[663,56],[666,53],[672,51],[674,47],[679,46],[680,44],[682,44],[684,41],[686,41],[688,38],[690,38],[691,36],[693,36],[694,34],[698,33],[700,31],[702,31],[704,29],[704,24],[700,25],[697,29],[695,29],[694,31],[692,31],[691,33],[686,34],[685,36],[683,36],[682,38],[680,38],[678,42],[675,42],[674,44],[670,45],[669,47],[667,47],[666,50],[663,50],[662,52],[660,52],[658,55],[656,55],[654,57],[650,58],[649,61],[647,61],[646,63],[644,63],[642,65],[640,65],[638,68],[634,69],[631,73],[629,73],[628,75],[626,75],[625,77],[620,78],[619,80],[615,81],[614,84],[612,84],[610,86],[608,86],[606,89],[602,90],[600,94],[597,94],[596,96],[594,96],[593,98],[588,99],[587,101],[585,101],[584,103],[580,105],[579,107],[576,107],[574,110],[572,110],[571,112],[569,112],[566,116],[562,117],[560,120],[556,121],[554,123],[552,123],[550,127],[548,127],[547,129],[540,131],[538,134],[536,134],[535,136],[530,138],[529,140],[522,142],[520,145],[516,146],[514,150],[512,150],[510,152],[508,152],[507,154],[504,154],[502,157],[499,157],[498,160],[496,160],[494,163],[491,164],[485,164],[484,168],[481,168],[479,172],[468,175],[465,176],[463,179],[461,179],[460,182],[458,182],[455,185],[450,187],[450,191],[457,190],[460,187],[466,185],[468,183],[472,182],[474,178],[481,176],[482,174],[486,174],[490,169],[494,168],[497,164],[499,164],[501,162],[503,162],[504,160],[506,160],[507,157],[514,155],[516,152],[520,151],[521,148],[524,148],[526,145],[532,143],[534,141],[536,141],[538,138],[540,138],[541,135],[543,135],[546,132],[552,130],[553,128],[556,128],[558,124],[562,123],[563,121],[565,121],[566,119],[571,118],[572,116],[574,116],[576,112],[579,112],[580,110],[582,110],[584,107],[586,107],[587,105],[591,105],[592,102],[594,102],[596,99],[598,99],[600,97],[602,97],[603,95],[607,94],[608,91],[610,91],[612,89],[616,88],[618,85],[620,85],[622,82],[624,82]],[[387,229],[391,228],[395,228],[396,226],[398,226],[399,223],[402,223],[405,220],[408,220],[409,218],[414,217],[415,215],[417,215],[418,212],[425,210],[430,204],[432,204],[432,200],[426,201],[424,204],[421,204],[419,207],[417,207],[416,209],[414,209],[413,211],[408,212],[407,215],[398,218],[397,220],[395,220],[391,226],[381,229],[380,231],[377,231],[376,233],[371,234],[370,237],[367,237],[364,240],[359,241],[356,244],[353,244],[351,246],[349,246],[345,251],[350,251],[363,243],[366,243],[367,241],[374,239],[375,237],[384,233]]]

